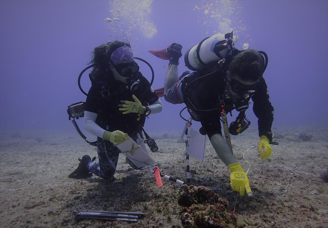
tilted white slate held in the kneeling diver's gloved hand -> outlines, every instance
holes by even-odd
[[[125,140],[123,143],[115,144],[115,146],[117,146],[118,149],[122,151],[122,154],[128,157],[128,159],[130,159],[130,161],[140,170],[148,169],[157,165],[157,162],[152,156],[147,154],[130,136],[128,136],[128,140]]]

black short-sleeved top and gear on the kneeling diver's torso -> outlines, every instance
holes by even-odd
[[[123,114],[123,111],[118,109],[118,105],[122,104],[121,100],[134,101],[132,94],[145,106],[152,105],[158,100],[158,96],[154,90],[149,89],[149,91],[145,93],[150,83],[141,73],[138,75],[137,79],[140,80],[139,88],[134,92],[127,88],[126,84],[118,80],[102,80],[108,85],[109,96],[107,98],[104,98],[101,94],[101,84],[94,84],[91,86],[88,95],[92,97],[87,97],[85,110],[98,114],[96,124],[108,131],[120,130],[128,135],[133,134],[133,132],[140,128],[140,125],[143,125],[144,119],[137,121],[138,113]],[[104,92],[104,94],[106,94],[106,92]],[[100,99],[93,97],[99,97]]]

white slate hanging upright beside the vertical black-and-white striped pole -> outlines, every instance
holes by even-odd
[[[187,154],[204,162],[206,136],[200,134],[193,128],[188,129]]]

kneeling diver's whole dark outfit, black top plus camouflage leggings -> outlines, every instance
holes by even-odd
[[[123,114],[123,111],[119,110],[119,104],[121,100],[134,101],[132,94],[134,94],[142,105],[152,105],[158,100],[157,94],[154,92],[153,88],[149,88],[150,83],[146,78],[144,78],[141,73],[138,75],[140,80],[139,88],[137,91],[132,92],[127,88],[126,84],[117,81],[114,78],[109,78],[108,76],[102,77],[97,76],[98,80],[94,82],[89,90],[87,100],[85,103],[85,110],[93,113],[97,113],[96,124],[101,128],[108,131],[120,130],[127,133],[134,141],[137,143],[141,138],[138,138],[137,133],[141,134],[141,126],[145,122],[145,115],[142,115],[142,119],[139,121],[138,113],[127,113]],[[103,78],[103,79],[101,79]],[[101,88],[102,85],[106,85],[105,89]],[[101,91],[104,95],[108,95],[106,98],[103,97]],[[100,98],[100,99],[97,99]],[[95,175],[109,180],[115,173],[116,165],[121,152],[113,143],[107,140],[103,140],[97,137],[98,145],[98,161],[89,162],[87,167]],[[142,140],[141,140],[142,142]],[[144,146],[142,143],[141,146]],[[146,148],[144,148],[146,149]],[[146,149],[147,150],[147,149]],[[133,164],[129,159],[127,159],[130,166],[134,169],[138,169],[137,166]]]

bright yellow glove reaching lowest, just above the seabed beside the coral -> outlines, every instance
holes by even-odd
[[[231,171],[230,186],[234,191],[239,192],[240,196],[244,196],[245,190],[248,196],[252,196],[252,190],[249,187],[249,180],[245,171],[241,168],[240,163],[233,163],[228,166]]]

